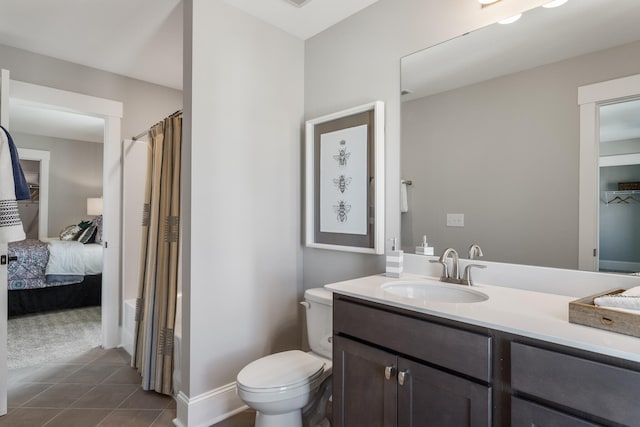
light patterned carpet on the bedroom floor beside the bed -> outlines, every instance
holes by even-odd
[[[66,359],[101,344],[100,307],[27,314],[7,322],[9,369]]]

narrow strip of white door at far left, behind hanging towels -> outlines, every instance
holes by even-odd
[[[0,124],[9,126],[9,71],[0,71]],[[0,415],[7,413],[7,244],[0,242]]]

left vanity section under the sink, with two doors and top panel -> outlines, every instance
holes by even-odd
[[[333,426],[491,425],[491,337],[334,294]]]

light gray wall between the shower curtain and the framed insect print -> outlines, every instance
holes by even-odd
[[[222,0],[184,11],[182,392],[196,398],[300,345],[304,45]]]

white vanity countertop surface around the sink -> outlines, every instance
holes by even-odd
[[[474,303],[416,302],[390,295],[380,287],[399,280],[421,279],[438,280],[409,273],[400,279],[380,274],[331,283],[325,288],[367,301],[640,362],[640,338],[569,323],[569,302],[575,297],[474,285],[472,289],[485,293],[489,299]]]

